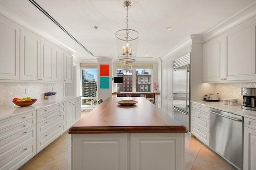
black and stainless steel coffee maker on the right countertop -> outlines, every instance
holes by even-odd
[[[242,109],[256,110],[256,88],[241,88],[243,96]]]

